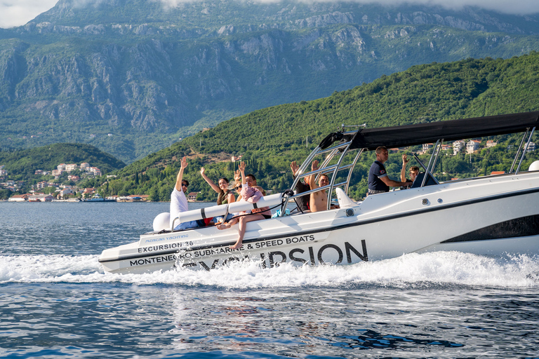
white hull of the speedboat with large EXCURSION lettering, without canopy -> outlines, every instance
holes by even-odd
[[[244,245],[230,250],[237,226],[148,233],[102,252],[105,271],[142,273],[213,269],[251,258],[262,266],[354,264],[411,252],[539,254],[539,172],[480,177],[368,196],[338,210],[247,224]]]

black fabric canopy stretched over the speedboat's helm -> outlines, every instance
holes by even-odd
[[[417,144],[463,140],[465,138],[519,133],[539,126],[539,111],[521,114],[465,118],[461,120],[418,123],[408,126],[365,128],[352,139],[350,149],[376,149],[385,146],[408,147]]]

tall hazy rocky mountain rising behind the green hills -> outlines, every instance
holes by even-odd
[[[172,1],[171,1],[172,3]],[[539,50],[539,15],[284,0],[60,0],[0,31],[0,147],[131,163],[255,109],[413,65]]]

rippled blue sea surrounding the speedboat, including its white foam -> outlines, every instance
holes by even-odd
[[[104,273],[100,252],[138,241],[161,212],[1,202],[0,357],[539,357],[538,257]]]

